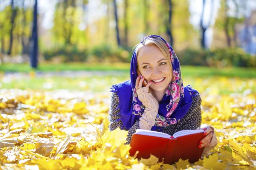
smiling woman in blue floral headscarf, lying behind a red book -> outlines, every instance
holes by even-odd
[[[160,36],[150,35],[137,44],[131,59],[131,80],[111,87],[110,130],[128,130],[126,144],[136,129],[173,135],[199,129],[201,97],[191,86],[183,87],[180,63],[172,47]],[[142,76],[137,74],[137,69]],[[143,87],[143,81],[148,84]],[[202,158],[217,144],[213,127],[204,128]]]

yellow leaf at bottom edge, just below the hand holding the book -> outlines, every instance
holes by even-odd
[[[223,170],[225,169],[226,164],[218,162],[218,154],[215,153],[212,156],[209,156],[209,159],[204,157],[203,166],[207,169]]]

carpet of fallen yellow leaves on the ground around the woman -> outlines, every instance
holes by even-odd
[[[184,80],[185,81],[185,80]],[[188,80],[186,80],[188,81]],[[218,145],[195,164],[134,159],[127,131],[108,130],[110,92],[0,90],[0,165],[26,170],[256,169],[256,79],[193,79],[202,125]],[[208,84],[208,85],[207,85]],[[228,89],[222,93],[221,89]]]

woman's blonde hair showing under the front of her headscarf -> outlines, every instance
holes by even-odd
[[[138,53],[142,47],[150,45],[156,45],[160,49],[160,51],[163,53],[164,57],[166,57],[172,68],[169,48],[166,46],[165,42],[159,37],[148,37],[146,39],[143,39],[141,43],[135,45],[133,50],[135,49],[134,51],[136,51],[136,56],[138,56]]]

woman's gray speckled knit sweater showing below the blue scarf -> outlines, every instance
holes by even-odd
[[[192,94],[193,95],[193,94]],[[183,117],[183,119],[180,120],[180,122],[177,122],[174,125],[169,125],[167,127],[163,127],[163,133],[167,133],[169,135],[173,135],[175,132],[180,131],[180,130],[195,130],[201,125],[201,102],[202,99],[200,95],[195,95],[193,98],[192,105],[189,109],[189,112],[186,114],[186,116]],[[119,109],[119,99],[117,94],[114,92],[112,93],[111,96],[111,105],[110,105],[110,110],[109,110],[109,129],[115,130],[117,127],[120,127],[122,125],[122,120],[120,120],[120,115],[118,114],[120,112]],[[119,119],[117,121],[117,119]],[[126,144],[130,144],[131,142],[131,136],[136,132],[136,130],[139,128],[139,120],[137,120],[134,125],[130,129],[125,129],[128,130],[128,136],[127,136],[127,141]]]

